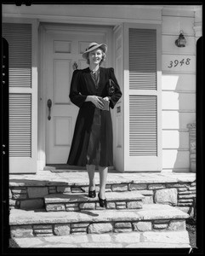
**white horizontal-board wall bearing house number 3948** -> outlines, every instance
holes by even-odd
[[[162,10],[162,168],[189,172],[189,130],[196,121],[195,12]],[[183,30],[186,46],[175,40]],[[173,62],[171,62],[173,61]]]

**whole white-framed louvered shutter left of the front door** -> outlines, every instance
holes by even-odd
[[[37,81],[32,24],[3,23],[9,43],[9,172],[37,172]]]

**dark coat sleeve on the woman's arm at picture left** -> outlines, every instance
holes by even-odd
[[[85,102],[87,96],[82,95],[79,88],[80,88],[80,71],[75,70],[72,74],[71,90],[70,90],[69,97],[73,104],[75,104],[75,105],[77,105],[77,107],[81,108],[81,106]]]

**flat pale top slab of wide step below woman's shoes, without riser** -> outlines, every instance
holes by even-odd
[[[82,212],[37,212],[12,209],[10,225],[100,223],[151,219],[185,219],[189,214],[176,207],[159,204],[144,205],[136,210],[85,210]]]

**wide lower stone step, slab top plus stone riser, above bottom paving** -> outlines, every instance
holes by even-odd
[[[67,236],[122,232],[184,231],[189,215],[176,207],[150,204],[137,210],[43,212],[12,209],[12,237]]]

